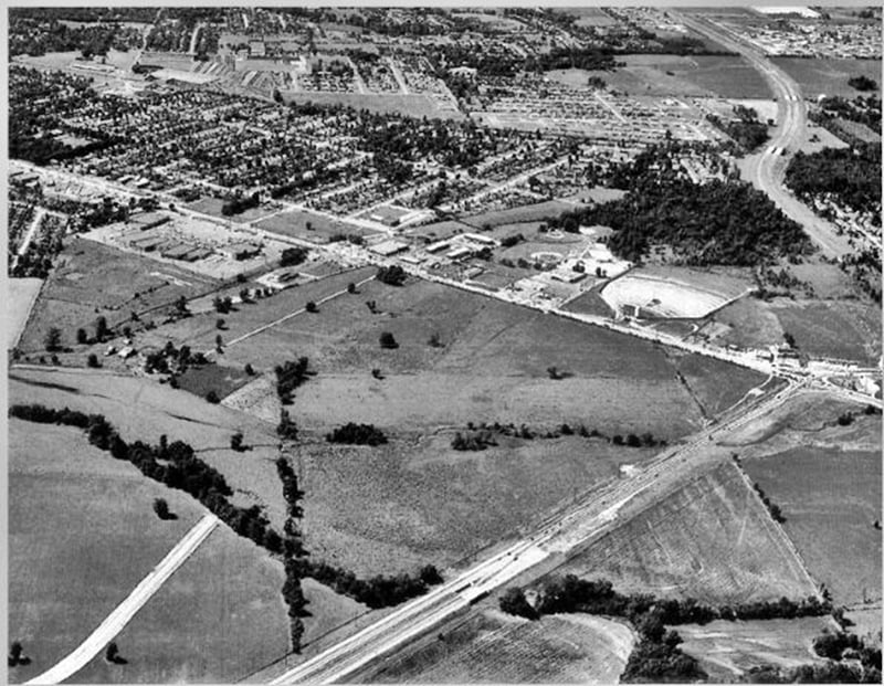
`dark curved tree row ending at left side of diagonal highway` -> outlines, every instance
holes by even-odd
[[[423,595],[431,585],[442,582],[442,576],[432,564],[422,567],[417,576],[403,573],[359,579],[352,572],[326,562],[299,559],[295,563],[301,566],[302,576],[316,579],[319,583],[365,603],[372,610],[398,605],[418,595]]]

